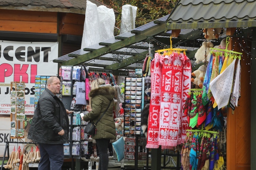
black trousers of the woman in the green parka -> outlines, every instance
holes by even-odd
[[[100,153],[100,162],[98,170],[108,170],[109,165],[109,155],[108,155],[108,146],[109,139],[95,139],[96,145]]]

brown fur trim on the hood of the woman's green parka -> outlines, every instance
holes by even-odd
[[[115,87],[113,86],[102,86],[96,89],[93,89],[89,92],[89,97],[95,97],[97,95],[102,95],[108,98],[109,100],[114,99],[116,95]]]

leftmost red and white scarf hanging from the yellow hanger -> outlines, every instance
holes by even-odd
[[[159,148],[159,112],[161,103],[161,56],[156,53],[151,62],[151,100],[148,115],[147,148]]]

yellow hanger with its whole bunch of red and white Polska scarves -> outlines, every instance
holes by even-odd
[[[170,42],[172,46],[171,37]],[[151,62],[153,81],[147,148],[161,145],[162,149],[169,149],[185,140],[188,126],[182,111],[191,85],[191,63],[184,51],[173,48],[158,50]],[[156,134],[158,138],[155,138]]]

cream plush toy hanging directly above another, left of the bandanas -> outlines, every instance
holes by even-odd
[[[209,54],[209,49],[213,47],[213,44],[210,41],[203,41],[202,46],[197,50],[195,54],[196,63],[205,62],[205,50],[206,56]]]

